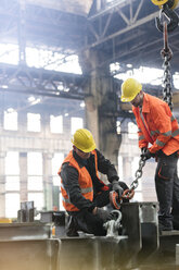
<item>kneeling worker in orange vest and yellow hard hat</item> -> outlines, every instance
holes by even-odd
[[[64,159],[59,175],[63,206],[71,217],[67,236],[77,236],[77,231],[94,235],[105,235],[103,223],[108,211],[101,209],[110,204],[110,192],[122,197],[127,185],[118,182],[115,167],[95,149],[90,131],[77,130],[72,139],[73,150]],[[110,185],[105,185],[99,173],[106,174]]]

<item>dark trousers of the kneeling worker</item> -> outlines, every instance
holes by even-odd
[[[125,189],[128,188],[128,186],[124,182],[119,182],[120,186]],[[98,208],[107,206],[110,204],[110,192],[111,192],[111,185],[110,189],[100,193],[99,195],[94,196],[93,202]],[[86,233],[94,234],[94,235],[105,235],[106,231],[103,228],[104,222],[107,220],[108,211],[102,210],[100,213],[92,214],[91,212],[87,210],[81,210],[79,212],[76,212],[75,216],[73,216],[75,222],[77,223],[77,230],[84,231]]]

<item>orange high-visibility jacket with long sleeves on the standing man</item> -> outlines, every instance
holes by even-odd
[[[168,105],[149,94],[143,96],[142,110],[132,107],[139,127],[139,147],[148,147],[150,151],[158,150],[167,156],[179,152],[179,126]]]

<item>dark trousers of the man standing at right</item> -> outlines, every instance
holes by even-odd
[[[158,222],[161,230],[179,230],[179,179],[177,154],[159,152],[155,173],[156,195],[159,202]]]

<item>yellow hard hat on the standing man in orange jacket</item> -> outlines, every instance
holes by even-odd
[[[122,84],[122,102],[130,102],[141,91],[142,85],[135,78],[127,78]]]

